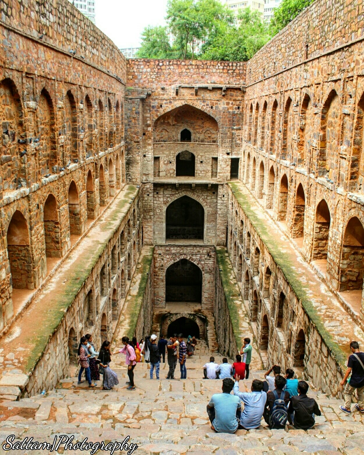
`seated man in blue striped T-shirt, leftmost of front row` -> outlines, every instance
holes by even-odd
[[[211,429],[217,433],[235,433],[238,430],[242,406],[238,396],[231,395],[233,379],[222,381],[222,393],[212,395],[207,404],[207,415]]]

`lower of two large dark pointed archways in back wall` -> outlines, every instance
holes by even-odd
[[[187,259],[170,265],[166,270],[166,302],[202,301],[202,271]]]

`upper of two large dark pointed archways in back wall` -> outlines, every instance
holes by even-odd
[[[192,197],[182,196],[166,210],[166,239],[201,239],[205,211]]]

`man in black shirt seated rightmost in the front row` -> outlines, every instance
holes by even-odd
[[[308,430],[315,424],[314,415],[321,415],[319,405],[313,398],[308,398],[308,384],[306,381],[299,381],[298,396],[291,398],[288,407],[289,420],[300,430]]]

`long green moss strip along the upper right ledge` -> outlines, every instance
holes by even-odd
[[[249,218],[249,221],[252,223],[253,227],[257,231],[262,242],[267,247],[269,253],[272,255],[274,262],[282,270],[284,277],[290,284],[293,292],[296,294],[298,300],[301,301],[303,309],[307,313],[309,319],[312,321],[319,334],[321,335],[324,343],[329,348],[329,350],[334,355],[338,364],[344,365],[346,360],[346,355],[339,348],[338,344],[334,341],[332,335],[324,326],[324,322],[317,313],[313,303],[308,296],[306,289],[303,287],[303,284],[300,278],[297,276],[296,271],[294,270],[295,264],[292,261],[291,256],[288,253],[285,253],[281,249],[281,245],[274,241],[272,234],[268,232],[267,226],[261,220],[254,209],[252,208],[251,199],[248,195],[243,194],[240,191],[240,188],[236,183],[229,183],[230,188],[232,189],[235,198],[237,199],[240,207],[242,207],[244,213]]]

